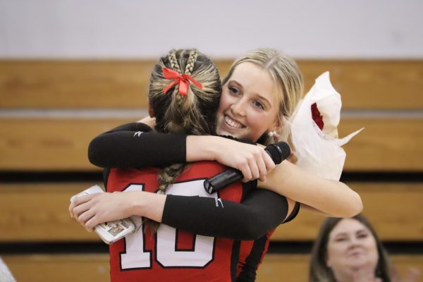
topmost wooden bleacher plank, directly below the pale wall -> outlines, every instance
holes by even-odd
[[[216,60],[222,75],[232,60]],[[298,60],[305,92],[331,72],[343,109],[423,109],[423,61]],[[0,108],[145,109],[154,61],[0,60]]]

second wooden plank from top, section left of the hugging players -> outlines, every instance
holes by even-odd
[[[133,119],[0,118],[0,170],[94,171],[95,136]]]

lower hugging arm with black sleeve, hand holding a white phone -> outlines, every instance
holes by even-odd
[[[200,235],[255,240],[295,217],[294,208],[295,202],[269,190],[254,190],[242,203],[222,199],[217,206],[212,197],[131,191],[78,197],[69,212],[87,231],[135,215]]]

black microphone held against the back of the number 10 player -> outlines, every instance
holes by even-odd
[[[275,144],[268,145],[264,148],[267,154],[271,157],[275,164],[281,164],[281,162],[288,158],[290,155],[290,147],[286,142],[277,142]],[[227,185],[235,182],[236,180],[243,179],[243,173],[235,168],[227,168],[226,171],[216,174],[212,178],[204,180],[204,189],[212,194]]]

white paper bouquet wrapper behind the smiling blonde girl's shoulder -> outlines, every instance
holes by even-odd
[[[312,118],[314,103],[324,122],[322,130]],[[317,78],[290,121],[297,165],[309,173],[332,180],[341,178],[346,156],[341,146],[363,129],[338,139],[336,128],[341,116],[341,105],[341,95],[331,85],[329,72],[326,72]]]

